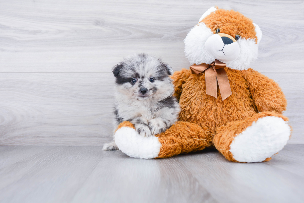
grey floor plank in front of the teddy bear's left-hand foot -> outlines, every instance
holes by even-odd
[[[102,191],[102,192],[97,192]],[[179,161],[107,152],[72,202],[217,202]]]

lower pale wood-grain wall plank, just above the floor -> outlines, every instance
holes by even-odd
[[[304,74],[266,75],[288,101],[288,143],[304,143]],[[103,145],[112,139],[113,90],[111,73],[2,73],[0,145]]]

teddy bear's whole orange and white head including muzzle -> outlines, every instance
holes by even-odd
[[[239,12],[211,7],[187,34],[185,54],[190,64],[210,64],[215,59],[243,70],[257,59],[262,32]]]

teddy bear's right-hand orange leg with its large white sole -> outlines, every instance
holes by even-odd
[[[257,113],[219,127],[213,142],[229,161],[269,161],[290,138],[291,128],[287,121],[287,117],[274,112]]]

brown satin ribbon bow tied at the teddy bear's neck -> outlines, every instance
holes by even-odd
[[[205,71],[206,94],[217,98],[217,82],[221,92],[222,100],[232,95],[229,80],[225,71],[226,64],[219,60],[211,64],[199,64],[190,66],[192,74]]]

